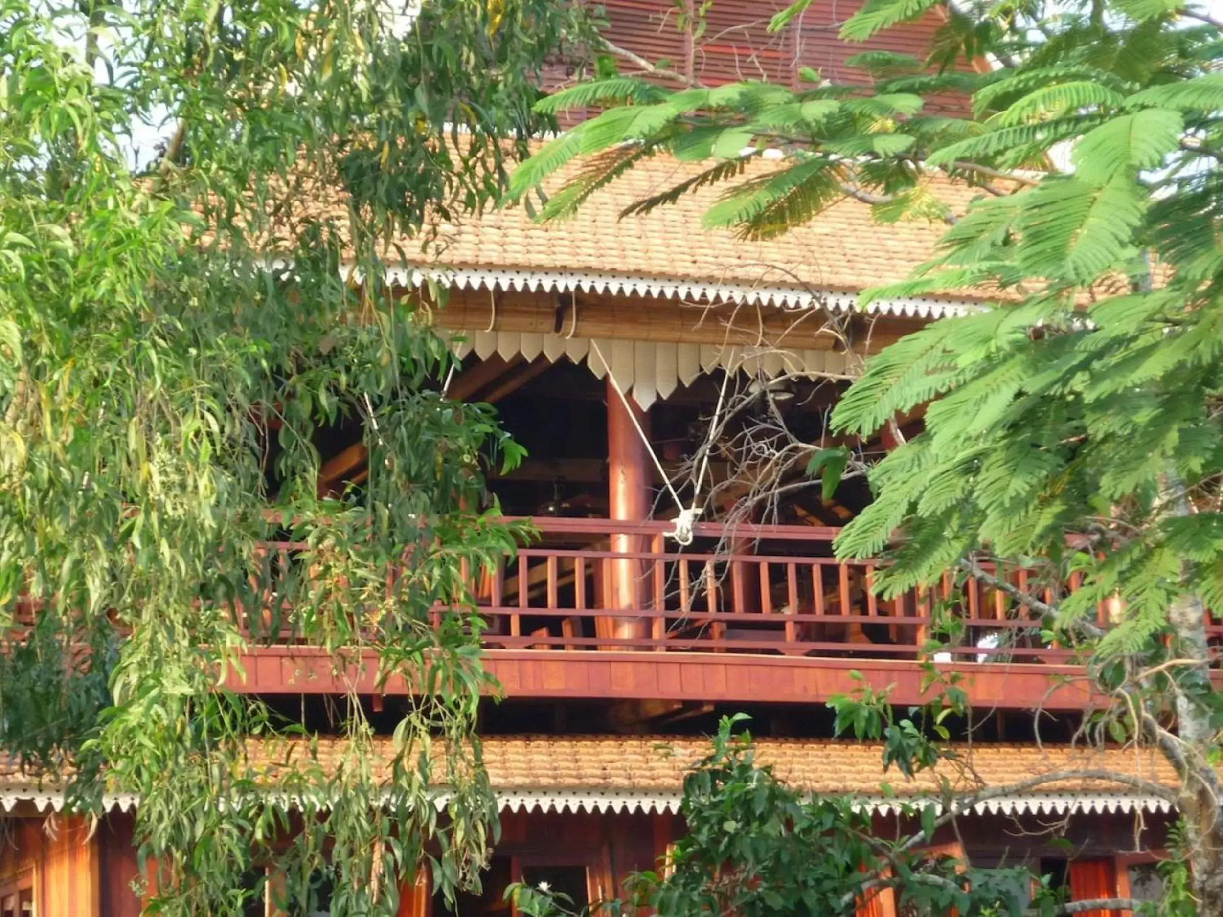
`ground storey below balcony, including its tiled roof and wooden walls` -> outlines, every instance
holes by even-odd
[[[482,747],[501,830],[484,891],[457,902],[462,917],[516,917],[504,895],[514,882],[547,882],[586,905],[621,896],[635,872],[665,868],[670,845],[685,830],[684,778],[709,745],[680,735],[516,734],[487,735]],[[900,802],[940,798],[949,786],[960,798],[977,798],[967,814],[931,839],[932,855],[966,858],[976,868],[1025,866],[1033,878],[1048,875],[1077,900],[1158,899],[1156,864],[1174,817],[1167,796],[1145,796],[1132,784],[1098,776],[1068,776],[1109,772],[1170,787],[1175,775],[1156,756],[976,743],[906,780],[894,772],[884,776],[882,749],[867,742],[758,737],[755,751],[758,764],[793,787],[855,796],[872,812],[878,836],[917,831]],[[262,753],[249,752],[252,759]],[[389,754],[375,743],[374,753],[384,752]],[[280,756],[294,753],[296,748],[278,746]],[[314,753],[324,768],[339,767],[344,747],[322,738]],[[1042,775],[1046,783],[1040,783]],[[141,863],[133,828],[139,800],[111,795],[105,803],[106,814],[91,822],[68,814],[54,787],[0,774],[0,917],[137,917],[141,899],[133,885]],[[898,912],[889,895],[863,901],[859,910],[862,917]],[[327,912],[324,901],[316,913]],[[446,912],[427,880],[405,883],[402,917]],[[276,908],[264,900],[248,917],[273,915]]]

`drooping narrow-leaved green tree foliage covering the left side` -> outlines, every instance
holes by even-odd
[[[555,126],[544,55],[587,27],[532,0],[390,26],[362,0],[0,0],[0,747],[84,812],[138,795],[158,913],[237,906],[256,862],[394,913],[429,857],[448,893],[478,882],[494,830],[465,570],[514,538],[481,456],[520,450],[440,396],[429,311],[380,278],[389,240],[503,192]],[[369,474],[324,499],[338,423]],[[389,775],[356,697],[324,772],[231,690],[285,636],[426,688]],[[292,765],[252,753],[290,737]]]

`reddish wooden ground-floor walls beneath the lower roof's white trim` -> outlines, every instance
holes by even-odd
[[[882,833],[894,817],[877,816]],[[132,842],[132,814],[113,812],[99,824],[64,814],[10,816],[0,820],[0,915],[2,917],[138,917],[133,891],[139,863]],[[934,838],[932,853],[969,857],[977,867],[1027,864],[1033,877],[1052,877],[1071,899],[1137,896],[1158,900],[1159,857],[1166,818],[1134,813],[986,814],[965,818],[958,833]],[[457,902],[462,917],[510,917],[511,882],[548,883],[575,904],[623,894],[625,880],[663,861],[682,831],[668,812],[504,812],[501,840],[479,895]],[[1135,847],[1139,851],[1135,852]],[[325,908],[325,902],[323,902]],[[327,910],[316,915],[327,915]],[[427,883],[405,883],[402,917],[450,913]],[[859,907],[861,917],[895,917],[890,896]],[[270,901],[249,917],[279,911]],[[1101,916],[1102,917],[1102,916]]]

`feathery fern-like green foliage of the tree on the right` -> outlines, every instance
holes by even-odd
[[[843,35],[931,6],[870,0]],[[794,28],[804,9],[773,27]],[[978,55],[986,72],[964,66]],[[949,570],[963,583],[981,562],[1022,569],[1030,592],[1016,600],[1032,632],[1016,636],[1075,650],[1103,696],[1124,702],[1130,725],[1113,715],[1115,729],[1101,729],[1156,742],[1174,763],[1169,743],[1181,741],[1199,762],[1178,764],[1186,849],[1212,857],[1195,864],[1199,895],[1201,877],[1223,869],[1223,784],[1202,763],[1217,760],[1223,724],[1202,609],[1223,609],[1221,62],[1219,23],[1197,4],[955,4],[925,70],[872,55],[865,84],[816,84],[808,72],[797,93],[690,88],[657,103],[681,117],[641,132],[625,116],[598,138],[687,160],[739,144],[779,153],[684,176],[651,199],[722,181],[704,225],[744,238],[846,197],[879,220],[951,224],[914,276],[861,296],[970,289],[982,308],[889,346],[838,403],[833,428],[848,436],[870,441],[898,417],[921,430],[870,468],[873,503],[837,553],[882,554],[884,594]],[[574,134],[586,142],[586,131]],[[554,171],[528,161],[515,186]],[[948,181],[978,191],[964,203]],[[810,472],[827,484],[837,461],[818,452]],[[940,641],[969,638],[953,611],[936,610]],[[914,760],[909,727],[873,709],[850,704],[838,719]],[[1162,725],[1173,718],[1179,740]]]

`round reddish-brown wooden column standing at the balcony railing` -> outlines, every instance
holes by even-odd
[[[625,400],[612,384],[608,390],[608,510],[613,520],[641,522],[649,515],[649,454],[634,425],[634,417],[648,434],[649,417]],[[641,536],[614,534],[610,550],[638,553],[645,550]],[[640,560],[609,561],[604,577],[604,608],[645,608],[645,565]],[[647,621],[642,617],[602,617],[598,620],[599,637],[638,638],[647,636]]]

